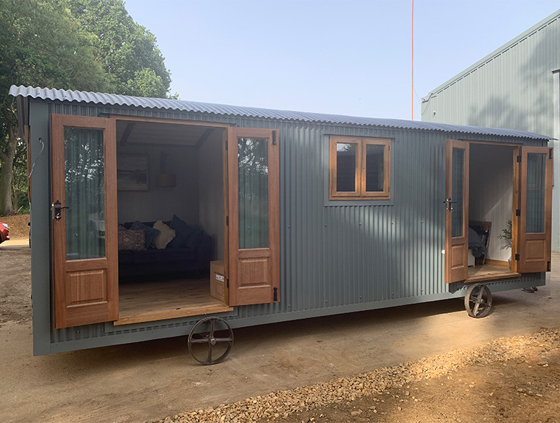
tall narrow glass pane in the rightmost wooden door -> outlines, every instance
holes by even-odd
[[[546,156],[527,154],[527,233],[544,233]]]

